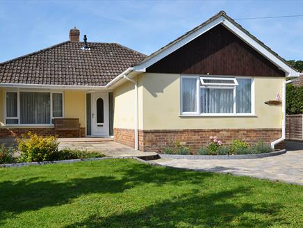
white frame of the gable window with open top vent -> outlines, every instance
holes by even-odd
[[[183,79],[184,78],[195,78],[197,79],[197,94],[196,94],[196,101],[197,101],[197,111],[196,112],[183,112]],[[180,78],[180,116],[208,116],[208,117],[216,117],[216,116],[256,116],[255,109],[254,109],[254,77],[252,76],[210,76],[210,75],[181,75]],[[234,86],[231,86],[229,83],[208,83],[206,86],[205,83],[202,85],[202,79],[217,79],[217,80],[231,80],[231,79],[251,79],[252,86],[251,86],[251,112],[250,113],[236,113],[236,86],[238,86],[238,82],[234,80]],[[201,84],[200,84],[201,82]],[[212,85],[209,85],[212,84]],[[234,106],[233,106],[233,113],[201,113],[200,108],[200,88],[218,88],[218,89],[233,89],[234,90]]]

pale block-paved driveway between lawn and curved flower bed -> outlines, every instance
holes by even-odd
[[[231,173],[303,185],[303,150],[256,159],[189,160],[161,158],[152,162],[176,168]]]

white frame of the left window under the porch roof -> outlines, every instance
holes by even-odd
[[[6,114],[6,94],[8,92],[17,92],[17,117],[8,117]],[[49,102],[49,112],[50,112],[50,124],[20,124],[20,92],[49,92],[50,96],[50,102]],[[62,117],[53,117],[53,93],[60,93],[62,94]],[[65,110],[64,110],[64,92],[62,90],[19,90],[19,89],[6,89],[4,90],[4,124],[6,126],[24,126],[24,127],[52,127],[54,124],[52,124],[52,120],[54,118],[64,118],[65,116]],[[6,124],[6,120],[18,120],[17,124]]]

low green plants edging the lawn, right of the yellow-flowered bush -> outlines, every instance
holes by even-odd
[[[62,149],[51,154],[49,161],[102,157],[104,157],[104,155],[100,154],[99,152],[87,152],[79,149]]]

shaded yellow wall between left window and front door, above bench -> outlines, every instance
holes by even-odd
[[[86,127],[84,91],[65,90],[64,113],[65,118],[79,118],[81,127]]]

